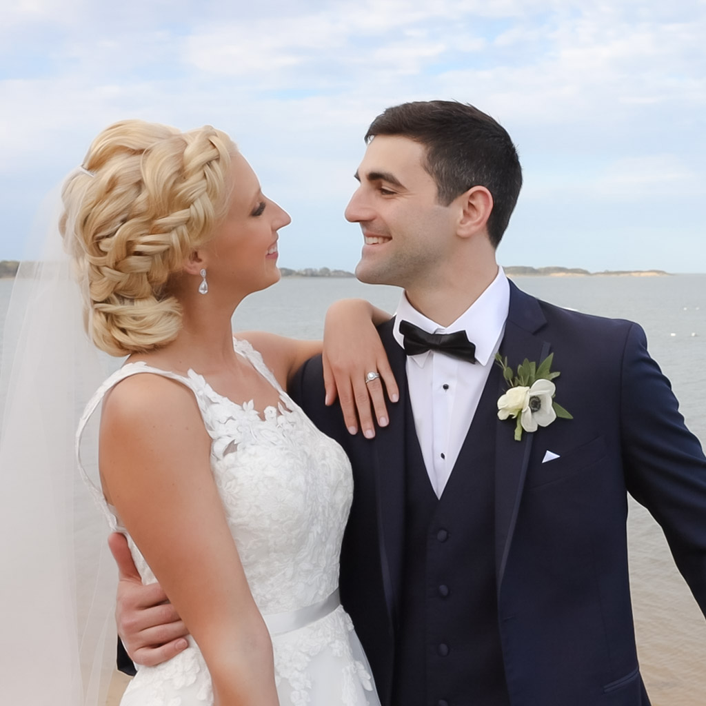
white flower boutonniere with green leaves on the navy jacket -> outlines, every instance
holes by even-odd
[[[522,430],[537,431],[539,426],[549,426],[557,417],[573,419],[573,417],[557,402],[554,402],[556,385],[552,382],[561,374],[551,372],[551,360],[554,353],[549,354],[539,366],[530,363],[525,358],[517,366],[517,375],[508,366],[508,359],[496,353],[495,359],[503,369],[503,378],[508,383],[508,391],[498,400],[498,417],[517,419],[515,425],[515,441],[522,440]]]

